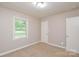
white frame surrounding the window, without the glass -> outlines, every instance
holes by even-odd
[[[26,37],[15,38],[15,20],[16,20],[16,18],[26,21]],[[13,40],[16,40],[16,39],[28,39],[28,19],[16,17],[16,16],[13,17]]]

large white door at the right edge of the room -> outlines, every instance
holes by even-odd
[[[79,52],[79,17],[66,19],[66,48]]]

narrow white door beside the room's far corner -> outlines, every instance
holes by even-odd
[[[42,42],[48,42],[48,21],[41,22],[41,40]]]

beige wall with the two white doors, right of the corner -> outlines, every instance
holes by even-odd
[[[79,16],[79,9],[64,12],[42,18],[41,21],[48,20],[48,42],[65,47],[66,45],[66,18]]]

